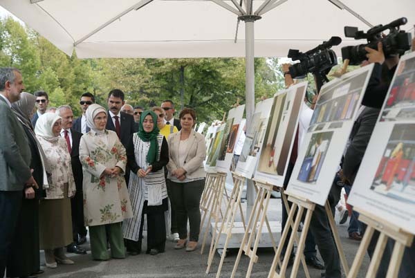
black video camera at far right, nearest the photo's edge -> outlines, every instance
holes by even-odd
[[[407,23],[406,17],[396,19],[390,24],[383,26],[382,24],[370,28],[367,33],[359,31],[357,27],[344,27],[344,35],[346,37],[353,37],[354,39],[367,39],[367,44],[359,44],[358,46],[344,46],[342,47],[343,61],[349,59],[350,65],[358,65],[367,59],[367,51],[365,47],[378,50],[378,42],[382,42],[383,53],[385,58],[391,55],[403,55],[406,50],[411,48],[412,36],[410,33],[405,33],[399,30],[399,26]],[[389,29],[389,34],[382,37],[382,32]]]

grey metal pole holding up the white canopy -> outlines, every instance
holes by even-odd
[[[245,94],[246,94],[246,128],[248,130],[250,126],[250,121],[252,114],[255,110],[255,52],[254,52],[254,42],[255,42],[255,33],[254,25],[255,21],[261,19],[257,15],[243,15],[239,17],[242,21],[245,21]],[[249,218],[250,213],[252,212],[252,206],[255,201],[255,190],[252,180],[247,180],[246,187],[246,198],[247,198],[247,218]]]

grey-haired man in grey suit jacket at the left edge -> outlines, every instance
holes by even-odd
[[[30,147],[10,106],[24,90],[16,68],[0,68],[0,277],[4,276],[10,245],[21,208],[21,196],[35,198],[37,183],[30,170]],[[28,231],[30,232],[30,231]]]

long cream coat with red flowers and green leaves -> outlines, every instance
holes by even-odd
[[[124,174],[100,179],[105,168],[125,171],[127,156],[117,133],[89,131],[80,142],[84,173],[84,223],[88,226],[118,223],[133,216]]]

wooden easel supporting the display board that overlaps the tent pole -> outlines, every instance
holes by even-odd
[[[210,270],[210,266],[212,266],[214,253],[218,247],[221,234],[226,234],[225,245],[223,247],[223,252],[221,255],[221,262],[219,263],[219,268],[216,273],[216,277],[219,277],[221,275],[221,268],[223,265],[223,260],[225,259],[225,256],[226,256],[226,250],[228,248],[230,237],[232,236],[232,228],[234,225],[234,219],[237,214],[238,207],[241,213],[243,227],[246,228],[245,221],[243,219],[242,209],[241,209],[241,196],[242,196],[242,191],[243,191],[243,185],[245,185],[246,178],[234,172],[232,172],[232,176],[234,179],[234,186],[233,186],[232,193],[230,194],[230,197],[228,200],[228,205],[226,205],[225,214],[223,216],[220,228],[219,228],[219,221],[215,222],[214,232],[212,232],[212,242],[210,243],[208,267],[206,268],[206,273],[208,274]],[[219,232],[216,232],[218,229],[219,229]]]

